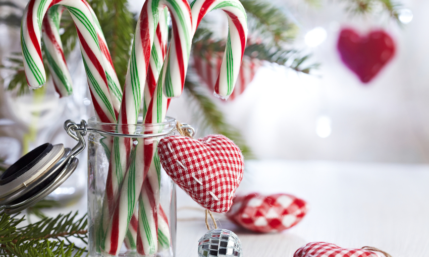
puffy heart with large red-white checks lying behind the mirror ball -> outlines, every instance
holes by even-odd
[[[278,232],[295,226],[307,213],[304,200],[287,194],[236,197],[227,217],[248,230]]]

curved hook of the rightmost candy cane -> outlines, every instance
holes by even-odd
[[[221,70],[215,84],[215,95],[227,99],[234,90],[247,40],[246,11],[238,0],[195,0],[191,4],[192,31],[212,10],[221,9],[228,17],[229,33]]]

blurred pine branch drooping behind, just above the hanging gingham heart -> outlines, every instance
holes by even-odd
[[[216,104],[189,77],[186,78],[184,88],[199,106],[200,113],[196,113],[195,116],[199,117],[200,126],[210,129],[214,133],[222,134],[234,141],[240,148],[245,159],[254,158],[250,148],[241,137],[240,132],[227,123],[224,114],[218,109]]]

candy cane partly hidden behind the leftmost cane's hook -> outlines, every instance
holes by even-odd
[[[67,68],[63,45],[60,38],[60,20],[64,10],[65,8],[62,6],[52,6],[48,9],[47,15],[45,15],[42,23],[45,55],[47,57],[48,67],[52,74],[55,89],[60,94],[60,97],[71,95],[72,93],[71,76]],[[92,18],[95,22],[94,28],[97,32],[103,66],[108,80],[109,92],[115,110],[115,115],[117,117],[119,114],[119,107],[121,105],[122,89],[98,19],[92,8],[89,7],[89,10],[91,11]]]

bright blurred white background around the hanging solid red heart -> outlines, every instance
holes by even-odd
[[[296,48],[311,51],[312,61],[321,65],[313,75],[260,68],[241,96],[217,101],[255,156],[428,163],[429,2],[401,1],[412,12],[401,26],[386,17],[353,16],[340,1],[324,1],[319,7],[277,2],[299,26]],[[362,34],[382,28],[396,42],[393,60],[369,84],[362,84],[340,60],[336,42],[342,27]],[[185,97],[176,99],[169,115],[192,123],[188,106]]]

